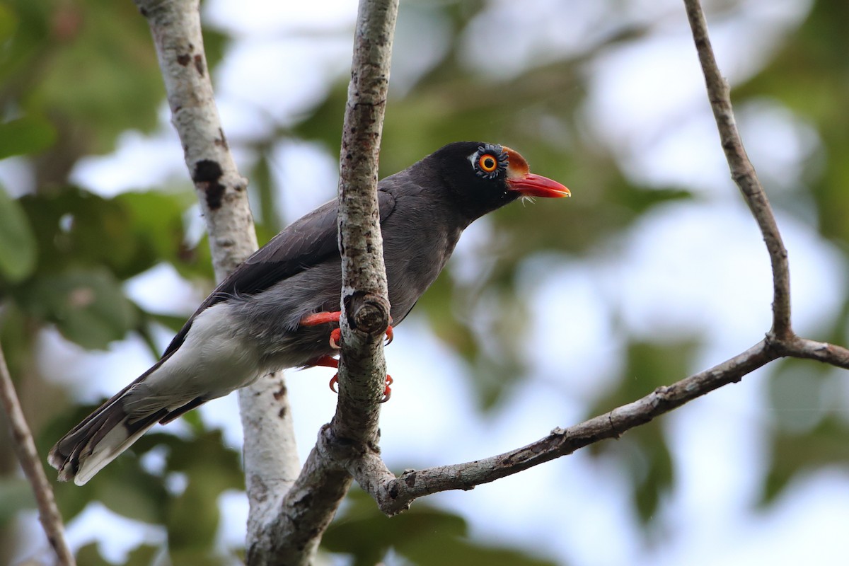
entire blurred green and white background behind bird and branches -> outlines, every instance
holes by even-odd
[[[794,327],[849,344],[849,3],[706,9],[790,251]],[[202,13],[264,242],[335,195],[356,3],[209,0]],[[522,446],[762,338],[767,253],[729,179],[681,3],[402,0],[395,46],[383,175],[484,140],[573,197],[469,227],[397,329],[381,417],[394,471]],[[155,360],[211,289],[209,251],[132,2],[0,2],[0,111],[0,339],[46,454]],[[333,414],[330,375],[288,373],[302,457]],[[319,559],[837,563],[847,384],[780,361],[621,440],[398,518],[354,493]],[[231,395],[85,487],[56,485],[80,563],[238,563],[240,436]],[[0,434],[0,563],[50,562],[33,507]]]

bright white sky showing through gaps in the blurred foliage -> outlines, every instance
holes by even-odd
[[[807,2],[794,0],[750,0],[721,21],[711,21],[725,75],[739,81],[756,72],[781,32],[796,25],[807,8]],[[617,10],[621,20],[611,22],[610,14]],[[423,18],[421,26],[430,33],[417,33],[411,14]],[[206,20],[239,38],[216,72],[228,136],[245,139],[263,132],[267,116],[285,124],[320,98],[329,81],[349,68],[355,15],[356,3],[344,0],[320,6],[261,0],[206,3]],[[423,322],[414,317],[405,322],[386,350],[392,374],[399,378],[381,416],[382,446],[391,467],[469,461],[575,423],[586,404],[604,393],[621,363],[624,345],[610,328],[611,314],[638,335],[706,337],[700,365],[693,371],[744,350],[768,328],[766,251],[728,179],[679,2],[498,0],[461,41],[469,60],[480,62],[486,58],[476,50],[494,41],[492,29],[503,30],[498,44],[505,58],[498,59],[492,72],[510,75],[529,61],[580,52],[623,21],[655,22],[656,32],[627,48],[611,48],[588,69],[590,92],[583,110],[588,132],[616,148],[621,163],[640,182],[679,183],[692,188],[697,198],[656,207],[588,260],[546,257],[527,262],[520,291],[533,297],[537,307],[523,345],[532,361],[531,379],[503,411],[490,417],[476,415],[463,362]],[[510,25],[499,25],[504,22]],[[435,54],[430,52],[429,59],[428,49],[416,47],[428,37],[441,37],[441,25],[416,3],[402,3],[393,70],[393,79],[398,76],[402,84],[393,88],[403,92],[432,64],[428,61]],[[308,36],[307,31],[321,33]],[[436,50],[439,44],[430,45]],[[285,67],[269,73],[280,61]],[[298,80],[291,81],[292,76]],[[161,121],[160,133],[148,137],[128,132],[115,154],[85,160],[76,179],[104,194],[182,179],[185,165],[165,111]],[[768,100],[739,109],[739,122],[770,190],[793,196],[804,161],[818,148],[816,133]],[[335,156],[308,143],[281,143],[274,162],[273,172],[288,191],[287,221],[335,193]],[[575,199],[581,191],[573,188]],[[796,196],[801,210],[809,207],[801,193]],[[835,311],[846,293],[846,273],[841,255],[797,216],[779,212],[779,224],[790,249],[795,327],[805,333],[820,328]],[[476,243],[491,229],[486,221],[469,228],[456,256],[475,255]],[[156,310],[188,314],[201,299],[164,266],[137,277],[128,289]],[[163,297],[169,297],[167,304]],[[170,336],[160,339],[164,345]],[[551,346],[540,350],[547,341]],[[129,380],[152,361],[134,339],[108,353],[87,354],[47,334],[44,347],[56,352],[45,361],[51,373],[89,401],[114,393],[116,373]],[[330,375],[322,369],[289,373],[301,457],[333,414],[335,397],[326,390]],[[773,507],[752,508],[765,473],[765,386],[756,373],[664,417],[676,485],[661,505],[662,533],[655,546],[645,545],[631,514],[625,472],[616,462],[582,452],[432,501],[468,518],[482,540],[531,546],[564,563],[833,562],[849,550],[842,533],[849,508],[845,471],[826,469],[797,479]],[[234,395],[201,411],[207,423],[223,427],[228,442],[240,446]],[[222,497],[222,505],[228,510],[222,542],[239,544],[245,499],[230,493]],[[162,536],[151,527],[123,525],[104,507],[92,505],[71,522],[68,532],[75,546],[102,541],[105,555],[116,561],[141,538],[157,541]]]

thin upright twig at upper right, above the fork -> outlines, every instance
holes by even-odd
[[[684,7],[687,9],[695,48],[699,53],[701,69],[705,75],[707,96],[711,101],[713,116],[717,120],[722,150],[725,152],[725,159],[728,160],[731,177],[743,193],[743,198],[749,205],[752,215],[755,216],[763,240],[767,244],[769,260],[773,267],[773,328],[770,333],[778,339],[789,339],[793,336],[793,330],[790,328],[790,266],[787,261],[787,249],[784,248],[784,242],[781,240],[767,193],[758,181],[755,168],[745,153],[743,142],[737,131],[728,82],[719,72],[700,2],[684,0]]]

